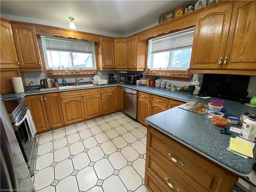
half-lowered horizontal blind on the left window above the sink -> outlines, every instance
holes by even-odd
[[[94,43],[89,41],[44,36],[46,50],[92,53]]]

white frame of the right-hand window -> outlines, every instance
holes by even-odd
[[[169,51],[169,61],[168,61],[168,67],[167,68],[164,68],[164,69],[161,69],[161,68],[152,68],[152,64],[153,64],[153,54],[152,54],[152,40],[156,40],[156,39],[162,39],[164,37],[168,37],[168,36],[172,36],[172,35],[175,35],[177,33],[182,33],[182,32],[186,32],[186,31],[190,31],[190,30],[194,30],[195,32],[195,28],[189,28],[189,29],[186,29],[186,30],[182,30],[182,31],[178,31],[178,32],[175,32],[175,33],[171,33],[171,34],[168,34],[168,35],[164,35],[164,36],[161,36],[161,37],[157,37],[157,38],[153,38],[153,39],[150,39],[148,40],[148,54],[147,54],[147,68],[148,69],[152,69],[152,70],[171,70],[171,71],[187,71],[187,68],[179,68],[179,69],[173,69],[173,68],[170,68],[170,64],[171,64],[171,61],[173,59],[172,57],[172,51]],[[193,45],[189,46],[189,47],[186,47],[184,49],[187,49],[187,48],[190,48],[192,49]],[[166,51],[162,51],[162,52],[166,52]],[[159,52],[161,53],[161,52]],[[191,57],[190,57],[191,58]],[[188,66],[189,68],[189,66]]]

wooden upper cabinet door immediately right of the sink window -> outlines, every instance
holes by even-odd
[[[102,53],[102,68],[115,68],[114,39],[108,37],[101,37],[100,44]]]

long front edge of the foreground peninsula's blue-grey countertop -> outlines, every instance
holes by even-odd
[[[174,136],[172,136],[172,135],[166,133],[165,131],[161,130],[160,128],[158,128],[157,126],[151,124],[150,122],[148,122],[148,121],[146,121],[146,120],[145,120],[145,122],[146,122],[148,125],[150,125],[150,126],[154,127],[155,129],[157,129],[158,131],[162,132],[163,134],[165,134],[165,135],[171,137],[172,139],[174,139],[174,140],[176,140],[176,141],[182,143],[183,145],[185,145],[186,147],[190,148],[191,150],[193,150],[193,151],[199,153],[200,155],[206,157],[207,159],[209,159],[209,160],[211,160],[211,161],[214,161],[215,163],[217,163],[217,164],[219,164],[220,166],[222,166],[222,167],[224,167],[224,168],[230,170],[230,172],[232,172],[232,173],[234,173],[234,174],[236,174],[236,175],[238,175],[238,176],[247,177],[247,176],[249,176],[249,175],[251,174],[251,173],[249,173],[249,174],[242,174],[242,173],[239,173],[239,172],[237,172],[236,170],[234,170],[234,169],[228,167],[227,165],[225,165],[225,164],[223,164],[223,163],[221,163],[221,162],[215,160],[214,158],[209,157],[209,156],[205,155],[204,153],[198,151],[196,148],[194,148],[194,147],[192,147],[192,146],[190,146],[190,145],[184,143],[183,141],[177,139],[176,137],[174,137]]]

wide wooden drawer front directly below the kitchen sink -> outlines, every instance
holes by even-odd
[[[74,98],[74,97],[94,95],[99,93],[100,93],[99,89],[85,89],[85,90],[78,90],[78,91],[65,91],[65,92],[61,92],[59,95],[60,95],[60,99],[68,99],[68,98]]]

